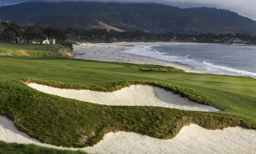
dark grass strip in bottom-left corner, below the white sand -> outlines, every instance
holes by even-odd
[[[56,150],[35,145],[8,144],[0,142],[0,154],[87,154],[80,151]]]

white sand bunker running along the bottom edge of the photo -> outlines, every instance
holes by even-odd
[[[12,121],[0,116],[0,141],[79,150],[91,154],[256,154],[256,130],[241,127],[207,130],[195,124],[183,127],[170,140],[132,132],[116,132],[105,134],[103,140],[93,147],[63,148],[38,143],[17,131]]]

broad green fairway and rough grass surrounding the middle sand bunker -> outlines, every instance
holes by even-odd
[[[169,139],[189,123],[207,129],[228,126],[256,129],[256,79],[169,70],[174,69],[79,59],[69,62],[68,58],[7,59],[3,56],[0,115],[14,121],[16,127],[30,137],[66,147],[92,146],[105,133],[115,131]],[[149,84],[221,111],[105,106],[45,94],[26,86],[25,82],[106,92],[131,84]]]

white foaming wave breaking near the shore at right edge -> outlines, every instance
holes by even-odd
[[[220,66],[220,65],[215,65],[209,62],[204,61],[203,65],[206,67],[210,67],[210,68],[215,68],[218,70],[224,70],[224,71],[228,71],[234,74],[239,74],[239,75],[243,75],[243,76],[251,76],[251,77],[256,77],[256,73],[253,72],[248,72],[245,70],[237,70],[236,68],[232,68],[232,67],[226,67],[226,66]]]

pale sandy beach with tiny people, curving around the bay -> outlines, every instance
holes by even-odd
[[[192,70],[191,65],[181,64],[178,62],[167,62],[160,59],[153,59],[145,56],[130,54],[125,51],[126,47],[137,45],[168,45],[168,44],[183,44],[181,42],[119,42],[119,43],[87,43],[73,45],[74,56],[76,59],[88,59],[107,62],[123,62],[134,64],[155,64],[163,66],[172,66],[183,69],[191,73],[210,73],[207,70]],[[188,44],[188,43],[184,43]],[[125,51],[125,52],[122,52]]]

